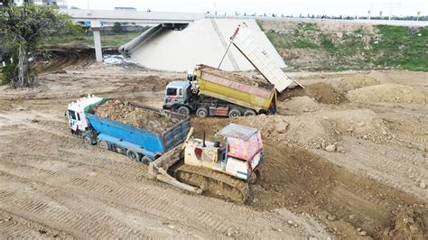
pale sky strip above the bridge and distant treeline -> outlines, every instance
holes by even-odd
[[[384,16],[391,12],[396,16],[416,15],[421,11],[428,14],[428,0],[65,0],[67,5],[81,9],[113,10],[116,6],[135,7],[138,11],[151,9],[157,12],[191,12],[218,14],[302,14],[326,15],[371,15],[382,11]]]

